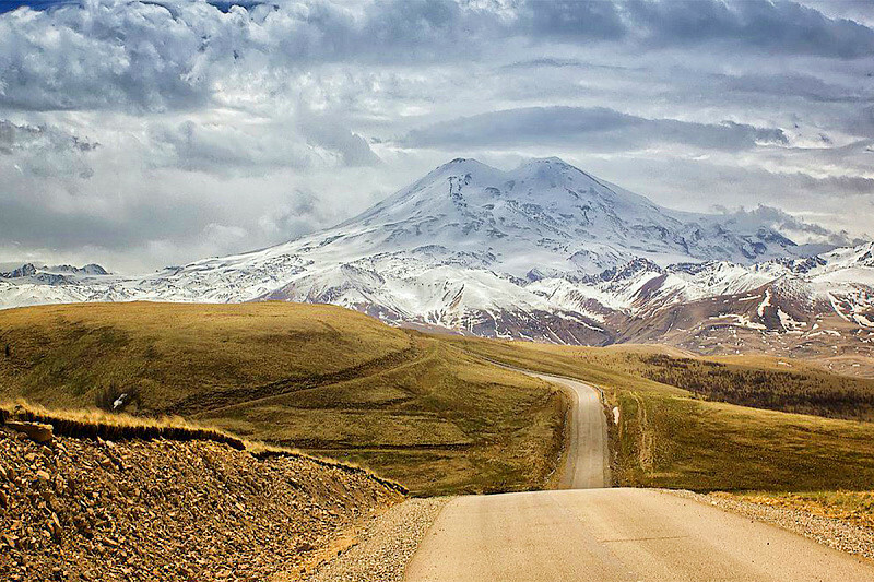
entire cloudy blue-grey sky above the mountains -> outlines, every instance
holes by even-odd
[[[869,0],[0,7],[0,262],[260,248],[459,156],[874,235]]]

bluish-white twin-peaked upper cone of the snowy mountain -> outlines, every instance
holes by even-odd
[[[636,258],[748,264],[799,253],[766,224],[739,228],[729,216],[671,211],[557,157],[511,171],[453,159],[332,230],[368,252],[427,247],[515,276],[534,265],[580,275]]]

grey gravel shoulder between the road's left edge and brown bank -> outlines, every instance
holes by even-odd
[[[307,582],[402,582],[406,563],[451,498],[410,499],[370,522],[358,543]]]

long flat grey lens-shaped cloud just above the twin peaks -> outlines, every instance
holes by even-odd
[[[604,107],[527,107],[481,114],[413,130],[401,140],[405,145],[444,147],[579,143],[595,152],[652,143],[734,151],[763,142],[786,144],[787,138],[778,128],[647,119]]]

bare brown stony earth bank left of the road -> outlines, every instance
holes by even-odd
[[[210,440],[0,427],[0,580],[295,580],[404,498],[354,467]]]

